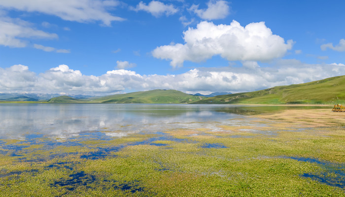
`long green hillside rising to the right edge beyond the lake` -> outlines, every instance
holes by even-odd
[[[345,76],[248,93],[222,95],[193,103],[334,104],[345,103]]]

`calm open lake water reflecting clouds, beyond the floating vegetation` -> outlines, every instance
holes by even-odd
[[[111,137],[176,129],[251,125],[247,114],[298,108],[219,104],[0,104],[0,139],[69,138],[107,131]]]

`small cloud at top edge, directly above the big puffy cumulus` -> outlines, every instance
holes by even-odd
[[[223,19],[230,14],[229,2],[225,0],[210,0],[207,3],[207,9],[198,9],[199,5],[192,5],[189,10],[196,13],[205,20]]]

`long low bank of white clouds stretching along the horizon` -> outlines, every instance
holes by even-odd
[[[195,68],[181,74],[141,75],[132,70],[109,70],[101,76],[83,75],[67,65],[34,73],[28,66],[0,68],[0,92],[109,95],[130,90],[174,89],[188,94],[248,92],[274,86],[306,83],[345,75],[344,64],[304,64],[278,60],[272,67],[242,62],[242,67]]]

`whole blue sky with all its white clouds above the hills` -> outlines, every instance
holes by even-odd
[[[0,93],[239,93],[345,75],[344,9],[344,0],[0,0]]]

